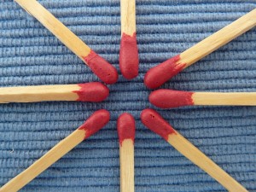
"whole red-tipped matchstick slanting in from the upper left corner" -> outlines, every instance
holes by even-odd
[[[36,0],[15,0],[30,15],[39,20],[56,38],[59,38],[67,48],[78,55],[84,63],[90,67],[91,71],[106,84],[114,84],[118,79],[118,73],[115,67],[97,55],[90,47],[71,32],[67,26],[64,26],[60,20],[49,13]]]

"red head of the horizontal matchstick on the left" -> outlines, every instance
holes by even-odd
[[[99,82],[92,82],[87,84],[78,84],[80,90],[73,92],[78,94],[79,102],[102,102],[109,95],[108,87]]]

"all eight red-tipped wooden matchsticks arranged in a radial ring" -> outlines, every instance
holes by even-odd
[[[117,82],[117,70],[97,55],[67,26],[57,20],[47,9],[36,0],[15,0],[29,14],[39,20],[46,28],[59,38],[67,48],[78,55],[91,71],[105,84]],[[121,40],[119,50],[119,67],[125,79],[134,79],[139,71],[139,57],[136,36],[136,2],[135,0],[120,0]],[[256,9],[238,20],[213,33],[200,43],[183,51],[160,65],[148,70],[144,77],[145,85],[155,89],[174,75],[189,67],[204,56],[211,54],[224,44],[238,37],[243,32],[256,25]],[[102,102],[109,95],[108,87],[99,82],[84,84],[55,84],[26,87],[0,88],[0,103],[9,102],[45,102],[45,101],[77,101]],[[178,108],[192,105],[232,105],[256,106],[256,93],[236,92],[189,92],[180,90],[154,90],[148,97],[149,102],[158,108]],[[108,124],[110,113],[101,109],[93,113],[83,125],[73,131],[68,137],[57,143],[53,148],[35,161],[25,171],[11,179],[0,188],[1,192],[18,191],[32,179],[44,172],[49,166],[67,154],[79,143],[90,137],[103,126]],[[222,168],[216,165],[206,154],[189,143],[182,135],[172,128],[169,123],[153,109],[144,109],[141,113],[143,125],[163,137],[196,166],[207,172],[225,189],[234,192],[247,191],[240,183]],[[122,113],[117,120],[119,136],[120,191],[134,192],[134,144],[136,121],[130,113]]]

